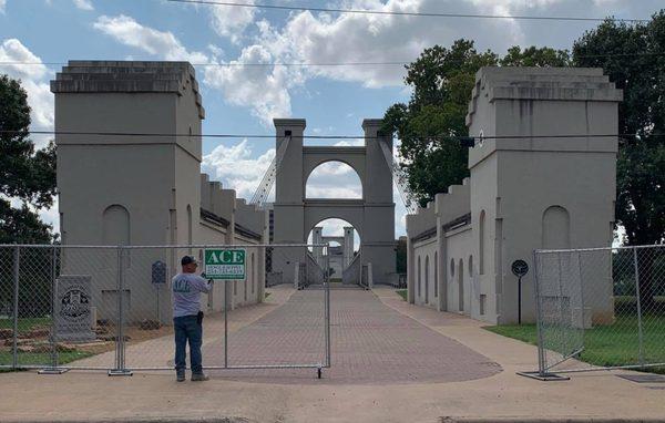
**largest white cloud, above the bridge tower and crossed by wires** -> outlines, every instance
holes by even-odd
[[[329,4],[398,12],[604,17],[612,13],[610,3],[616,0],[594,0],[587,3],[576,0],[339,0]],[[217,12],[218,10],[213,11]],[[248,13],[247,10],[236,11]],[[231,11],[225,13],[228,17]],[[626,13],[638,16],[640,11]],[[241,32],[245,31],[252,19],[256,17],[246,16],[241,19]],[[561,27],[548,32],[542,31],[539,21],[515,19],[442,19],[301,11],[289,14],[282,25],[275,25],[266,19],[256,21],[257,34],[250,43],[244,45],[239,56],[232,63],[409,62],[418,58],[424,48],[434,44],[447,47],[460,38],[474,40],[480,51],[492,49],[498,53],[505,52],[514,44],[570,48],[575,38],[585,29],[595,27],[596,22],[550,24]],[[219,32],[215,22],[213,28]],[[228,33],[228,30],[224,31],[222,33]],[[252,109],[254,115],[260,117],[266,126],[270,126],[273,117],[290,116],[293,92],[310,79],[349,81],[366,87],[402,86],[405,72],[401,65],[235,66],[206,72],[206,81],[221,87],[232,104]]]

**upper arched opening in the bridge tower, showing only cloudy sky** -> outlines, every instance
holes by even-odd
[[[326,162],[315,167],[307,177],[305,198],[362,199],[362,183],[348,164]]]

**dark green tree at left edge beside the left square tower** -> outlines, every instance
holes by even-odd
[[[35,210],[53,205],[55,146],[35,152],[29,127],[28,94],[19,81],[0,75],[0,244],[54,240]]]

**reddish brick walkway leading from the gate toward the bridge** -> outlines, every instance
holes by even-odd
[[[267,383],[382,384],[488,378],[501,368],[484,355],[383,305],[372,292],[331,291],[332,368],[212,371],[215,378]],[[254,323],[229,333],[232,365],[324,362],[324,291],[305,290]],[[204,347],[206,365],[222,365],[219,344]]]

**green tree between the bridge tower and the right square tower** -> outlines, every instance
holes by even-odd
[[[480,68],[559,66],[569,61],[567,51],[534,47],[523,51],[513,47],[499,60],[489,50],[479,53],[473,41],[457,40],[450,49],[426,49],[407,65],[405,82],[413,93],[408,104],[388,109],[382,131],[396,134],[401,142],[400,166],[413,199],[424,206],[437,193],[447,193],[448,186],[469,175],[469,152],[459,137],[468,135],[464,118]]]

